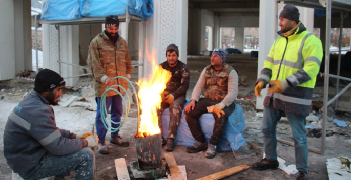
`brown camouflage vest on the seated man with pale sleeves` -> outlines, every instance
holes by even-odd
[[[228,76],[234,68],[226,63],[219,70],[208,65],[205,70],[204,96],[210,101],[222,101],[228,93]]]

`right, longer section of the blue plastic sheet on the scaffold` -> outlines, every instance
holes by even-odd
[[[143,19],[153,14],[152,0],[82,0],[81,14],[84,17],[106,17],[125,15],[128,6],[129,14]]]

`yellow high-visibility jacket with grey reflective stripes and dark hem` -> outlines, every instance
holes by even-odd
[[[290,86],[282,93],[267,93],[264,106],[301,116],[311,111],[312,94],[323,57],[322,43],[301,24],[291,36],[278,32],[256,84],[270,80],[287,81]]]

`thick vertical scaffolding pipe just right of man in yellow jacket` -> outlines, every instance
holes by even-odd
[[[330,64],[330,46],[331,46],[331,13],[332,0],[326,1],[326,32],[325,32],[325,68],[324,68],[324,97],[323,97],[323,123],[322,123],[322,145],[321,154],[325,153],[326,140],[326,122],[328,114],[328,92],[329,92],[329,64]]]

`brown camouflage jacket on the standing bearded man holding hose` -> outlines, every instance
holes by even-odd
[[[89,68],[89,70],[93,71],[95,96],[97,97],[101,97],[105,92],[107,78],[112,79],[116,76],[128,78],[127,74],[132,74],[132,62],[129,57],[127,42],[120,36],[113,44],[105,31],[98,34],[90,42],[88,58],[92,60],[92,68]],[[126,90],[128,89],[129,83],[125,79],[118,78],[113,82],[121,85]],[[116,87],[116,89],[121,94],[125,94],[122,88]],[[118,95],[118,93],[109,91],[106,96],[113,95]]]

